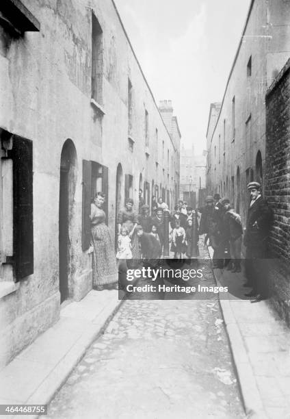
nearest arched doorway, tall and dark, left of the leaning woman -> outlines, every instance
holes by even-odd
[[[77,151],[72,140],[62,147],[60,157],[60,207],[59,207],[59,270],[60,302],[70,294],[70,224],[77,181]]]

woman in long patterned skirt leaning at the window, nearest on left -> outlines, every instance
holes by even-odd
[[[104,285],[118,285],[118,270],[114,243],[105,224],[106,214],[102,210],[105,194],[98,192],[91,204],[92,223],[92,278],[94,288],[102,290]]]

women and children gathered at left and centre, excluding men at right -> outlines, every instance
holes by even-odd
[[[150,207],[144,203],[142,190],[137,212],[133,199],[128,198],[117,214],[117,252],[103,210],[106,196],[98,192],[91,204],[90,220],[92,238],[88,253],[92,253],[93,285],[96,290],[116,288],[118,283],[118,261],[123,259],[159,259],[163,254],[165,231],[174,257],[191,256],[192,207],[179,201],[170,214],[168,205],[161,197],[152,197]],[[166,214],[167,213],[167,214]],[[165,215],[170,220],[165,228]]]

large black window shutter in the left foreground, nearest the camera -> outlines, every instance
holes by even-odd
[[[32,141],[14,136],[13,242],[16,280],[34,273]]]

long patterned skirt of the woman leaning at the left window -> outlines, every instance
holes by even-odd
[[[114,244],[105,224],[92,226],[92,258],[93,285],[105,285],[118,281],[118,270]]]

